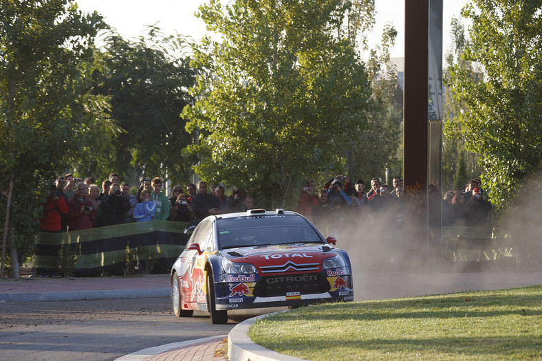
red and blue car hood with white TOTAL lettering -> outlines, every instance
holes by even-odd
[[[321,269],[323,259],[337,254],[335,248],[322,243],[239,247],[220,252],[232,262],[252,263],[260,271],[282,272]]]

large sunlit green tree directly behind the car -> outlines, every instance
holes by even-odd
[[[367,72],[333,36],[341,1],[210,0],[199,16],[221,42],[195,49],[202,69],[184,109],[204,179],[253,186],[285,205],[305,175],[332,173],[372,107]]]

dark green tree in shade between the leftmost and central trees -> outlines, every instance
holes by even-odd
[[[188,88],[194,85],[195,71],[183,54],[186,46],[182,36],[164,36],[155,26],[149,26],[147,38],[136,41],[115,33],[106,37],[103,66],[94,74],[95,91],[112,97],[110,116],[124,132],[111,143],[114,157],[94,159],[102,173],[135,169],[187,179],[192,160],[182,149],[192,138],[179,115],[193,102]]]

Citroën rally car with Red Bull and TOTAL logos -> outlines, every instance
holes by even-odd
[[[296,212],[263,209],[206,217],[171,270],[178,317],[228,309],[354,300],[350,260]]]

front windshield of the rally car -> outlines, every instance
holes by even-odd
[[[286,243],[325,243],[310,223],[296,215],[220,219],[217,228],[220,249]]]

